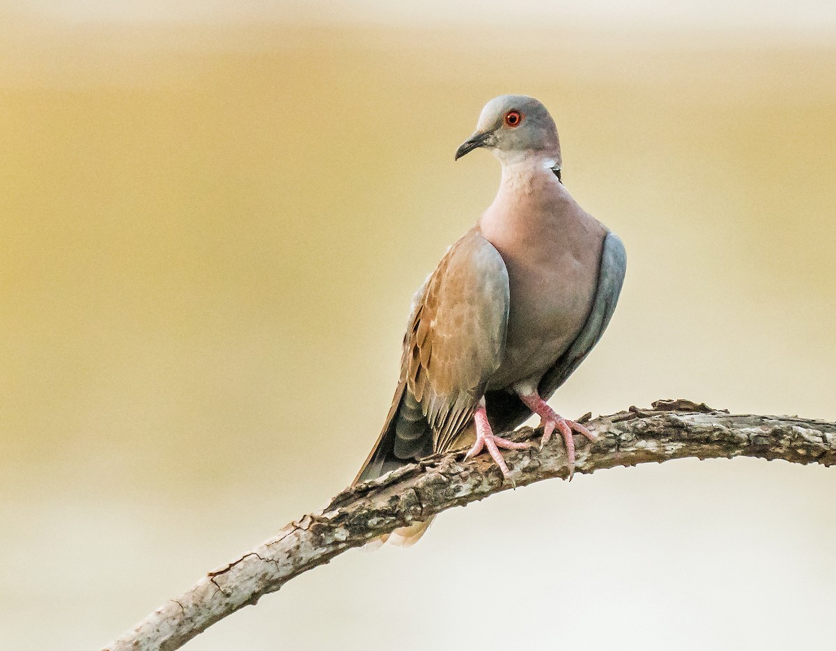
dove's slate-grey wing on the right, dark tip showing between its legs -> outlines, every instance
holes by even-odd
[[[566,352],[540,379],[538,392],[543,399],[548,399],[558,390],[558,387],[568,379],[569,375],[573,374],[595,344],[599,342],[615,311],[626,270],[627,252],[624,251],[624,244],[619,236],[610,231],[604,237],[598,287],[595,290],[595,299],[589,311],[589,317]],[[501,391],[492,391],[487,394],[487,412],[497,431],[512,430],[531,415],[531,411],[516,395]]]

